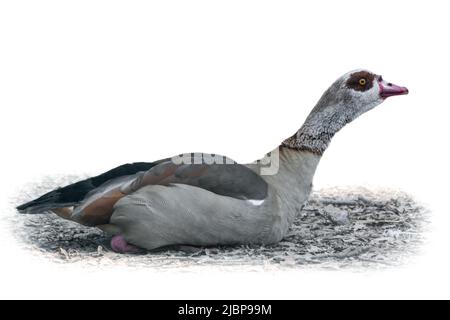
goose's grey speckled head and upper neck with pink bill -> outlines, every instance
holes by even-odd
[[[387,97],[407,93],[405,87],[388,83],[370,71],[350,71],[325,91],[300,130],[283,141],[282,146],[321,155],[334,134],[347,123]]]

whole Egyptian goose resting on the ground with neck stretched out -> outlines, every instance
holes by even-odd
[[[372,72],[351,71],[325,91],[293,136],[255,163],[188,154],[125,164],[17,209],[53,211],[98,227],[123,253],[179,244],[276,243],[307,200],[334,134],[387,97],[407,93]]]

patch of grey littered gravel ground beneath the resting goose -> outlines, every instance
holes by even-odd
[[[12,205],[80,177],[47,178],[26,188]],[[54,214],[11,210],[12,231],[22,245],[58,263],[122,265],[170,270],[197,266],[250,268],[359,268],[398,266],[421,248],[427,211],[405,193],[365,188],[315,191],[288,236],[270,246],[180,247],[141,255],[111,251],[100,230]]]

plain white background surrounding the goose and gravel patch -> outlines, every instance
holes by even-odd
[[[11,194],[46,175],[191,151],[252,161],[360,67],[410,95],[344,128],[315,187],[399,188],[432,211],[421,256],[365,273],[63,268],[22,251],[3,223],[0,297],[450,298],[449,9],[384,0],[0,2],[2,212]]]

